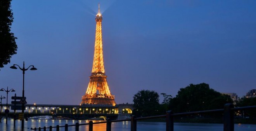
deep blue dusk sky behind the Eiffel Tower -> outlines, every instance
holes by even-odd
[[[22,96],[22,71],[9,67],[25,61],[38,69],[25,73],[28,104],[80,104],[92,71],[98,3],[117,104],[132,103],[142,89],[175,97],[202,82],[239,97],[256,89],[255,0],[13,0],[18,50],[1,68],[0,87]]]

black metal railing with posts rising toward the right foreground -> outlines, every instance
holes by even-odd
[[[194,111],[194,112],[187,112],[187,113],[173,113],[172,111],[167,111],[164,115],[159,116],[149,116],[149,117],[142,117],[136,118],[136,116],[131,116],[131,119],[120,119],[120,120],[110,120],[95,122],[89,121],[89,123],[79,124],[76,123],[74,125],[65,124],[65,126],[55,126],[55,127],[43,127],[43,131],[46,129],[50,129],[52,131],[53,128],[56,128],[56,131],[59,131],[59,128],[64,127],[65,131],[68,131],[69,126],[75,126],[75,131],[79,131],[79,126],[89,125],[89,131],[93,131],[93,124],[102,124],[106,123],[106,131],[111,131],[111,123],[114,122],[123,122],[123,121],[131,121],[131,131],[137,131],[137,120],[144,120],[144,119],[154,119],[154,118],[166,118],[166,131],[174,131],[174,121],[173,118],[175,116],[184,116],[184,115],[192,115],[192,114],[204,114],[204,113],[216,113],[220,112],[223,113],[223,130],[224,131],[234,131],[234,111],[241,111],[245,109],[256,109],[256,106],[246,106],[246,107],[237,107],[234,108],[233,104],[225,104],[224,109],[214,109],[214,110],[207,110],[207,111]],[[33,129],[33,128],[31,128]],[[41,128],[34,128],[34,130],[38,129],[41,131]]]

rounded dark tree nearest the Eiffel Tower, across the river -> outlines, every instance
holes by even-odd
[[[133,96],[133,114],[136,116],[154,116],[158,114],[159,95],[155,91],[141,90]]]

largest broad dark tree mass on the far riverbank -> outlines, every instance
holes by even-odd
[[[208,84],[190,84],[178,91],[170,100],[170,108],[175,113],[221,109],[226,103],[233,103],[228,95],[214,91]]]

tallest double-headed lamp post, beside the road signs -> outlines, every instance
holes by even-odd
[[[31,71],[35,71],[37,70],[33,65],[29,66],[28,68],[25,69],[25,62],[23,61],[23,68],[21,68],[19,65],[14,64],[13,66],[11,66],[11,69],[17,69],[17,67],[19,67],[19,69],[21,69],[22,74],[23,74],[23,86],[22,86],[22,98],[24,99],[24,74],[25,71],[27,71],[30,67],[32,67],[30,70]],[[22,103],[22,113],[24,113],[24,103]],[[21,120],[21,129],[24,129],[24,119]]]

